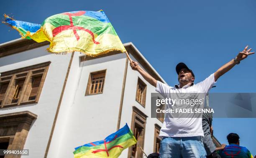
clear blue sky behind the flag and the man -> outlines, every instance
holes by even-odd
[[[13,0],[0,2],[0,14],[40,24],[58,13],[102,9],[121,41],[133,42],[165,81],[174,85],[175,66],[181,61],[200,82],[246,45],[256,49],[255,6],[255,0]],[[0,34],[0,43],[20,37],[4,24]],[[256,54],[248,56],[221,76],[211,92],[256,92],[255,61]],[[221,143],[228,144],[228,133],[238,133],[241,145],[256,155],[255,118],[216,118],[213,126]]]

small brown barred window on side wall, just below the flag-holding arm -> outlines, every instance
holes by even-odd
[[[136,100],[145,107],[146,105],[146,84],[138,78],[138,84],[137,84],[137,92],[136,92]]]

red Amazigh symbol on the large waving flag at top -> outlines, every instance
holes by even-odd
[[[69,29],[72,29],[73,32],[74,32],[74,35],[76,36],[77,38],[77,41],[80,39],[79,35],[77,34],[77,30],[82,30],[82,31],[86,31],[88,33],[90,33],[90,35],[92,36],[92,41],[93,43],[95,44],[100,44],[100,42],[97,42],[95,41],[95,37],[94,37],[94,34],[92,33],[92,31],[88,30],[88,29],[85,29],[85,28],[82,28],[82,27],[79,27],[79,26],[74,26],[73,24],[73,19],[72,19],[72,16],[81,16],[81,15],[84,15],[85,14],[85,11],[78,11],[77,13],[62,13],[64,15],[69,15],[69,20],[70,20],[70,25],[62,25],[62,26],[59,26],[59,27],[56,27],[52,30],[52,35],[55,37],[57,34],[61,33],[62,31],[65,31],[65,30],[69,30]]]

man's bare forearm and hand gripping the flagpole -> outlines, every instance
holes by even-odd
[[[148,83],[150,83],[152,86],[156,87],[156,82],[157,82],[156,79],[154,79],[150,74],[148,74],[146,71],[144,71],[136,61],[132,61],[130,63],[130,66],[133,70],[138,71],[141,74],[141,76],[143,76],[143,78],[146,79],[146,81]]]

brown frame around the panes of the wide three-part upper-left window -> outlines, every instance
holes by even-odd
[[[36,65],[32,65],[32,66],[23,67],[20,69],[2,72],[1,76],[0,76],[0,83],[1,82],[9,82],[9,84],[8,84],[8,88],[4,94],[3,100],[0,104],[0,108],[13,107],[13,106],[18,106],[18,105],[22,105],[22,104],[37,103],[40,98],[40,94],[43,89],[44,81],[46,79],[47,71],[49,69],[50,64],[51,64],[51,61],[48,61],[48,62],[44,62],[41,64],[36,64]],[[43,70],[43,71],[40,71],[40,70]],[[38,71],[38,73],[37,73],[37,71]],[[25,74],[25,75],[22,76],[23,74]],[[21,77],[19,77],[19,75],[21,75]],[[36,76],[36,75],[42,75],[41,82],[40,82],[40,85],[38,87],[38,91],[36,94],[36,98],[33,100],[28,100],[30,92],[32,90],[32,87],[29,83],[32,82],[32,76]],[[11,103],[13,100],[13,95],[14,95],[13,90],[15,90],[15,88],[14,88],[15,80],[17,80],[19,78],[25,78],[25,81],[23,83],[23,86],[20,91],[20,95],[18,97],[17,102]],[[30,87],[29,87],[29,85],[30,85]],[[29,90],[29,88],[31,90]]]

